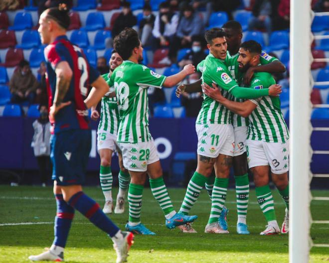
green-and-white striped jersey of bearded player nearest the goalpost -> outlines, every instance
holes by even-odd
[[[275,84],[275,80],[270,73],[256,72],[250,88],[268,89],[272,84]],[[257,104],[257,107],[249,115],[247,139],[286,142],[289,131],[281,113],[279,97],[263,96],[251,101]]]

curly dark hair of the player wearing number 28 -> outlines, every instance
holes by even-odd
[[[123,60],[127,60],[135,47],[139,47],[141,41],[136,30],[126,27],[114,38],[113,46]]]

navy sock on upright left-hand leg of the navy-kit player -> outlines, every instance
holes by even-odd
[[[55,217],[54,235],[52,243],[55,246],[65,248],[68,233],[74,217],[74,209],[63,199],[62,194],[56,194],[57,213]]]

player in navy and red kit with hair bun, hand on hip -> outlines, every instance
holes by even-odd
[[[120,229],[82,190],[91,149],[88,108],[97,104],[109,87],[86,60],[82,50],[65,33],[70,17],[65,5],[46,9],[39,19],[38,32],[45,48],[49,96],[49,118],[53,124],[51,158],[54,195],[57,204],[54,235],[50,249],[30,256],[32,261],[64,260],[64,248],[74,217],[79,211],[114,242],[117,263],[126,262],[134,235]],[[94,88],[88,95],[89,85]],[[88,95],[88,97],[87,97]]]

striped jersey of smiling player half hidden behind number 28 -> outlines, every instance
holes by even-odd
[[[109,74],[102,75],[106,83],[110,84]],[[109,85],[110,86],[110,85]],[[110,132],[111,134],[117,135],[119,128],[119,109],[118,100],[116,97],[106,97],[110,92],[114,91],[114,87],[110,86],[110,90],[101,101],[101,118],[98,125],[98,132]]]

